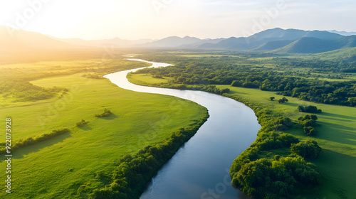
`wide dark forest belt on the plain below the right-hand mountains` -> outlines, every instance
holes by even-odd
[[[340,63],[339,60],[318,58],[279,58],[279,55],[267,53],[248,55],[236,53],[238,56],[231,54],[204,58],[182,58],[179,54],[173,53],[142,55],[141,57],[147,60],[172,63],[174,67],[147,68],[136,73],[169,77],[168,85],[171,86],[232,85],[278,91],[279,95],[298,97],[310,102],[356,106],[355,80],[342,82],[323,80],[323,77],[333,79],[330,74],[335,75],[335,72],[342,76],[338,79],[343,79],[344,76],[350,75],[346,72],[349,71],[347,68],[355,68],[355,62]]]

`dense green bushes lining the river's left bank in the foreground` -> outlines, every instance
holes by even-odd
[[[81,198],[140,198],[148,183],[159,168],[166,163],[183,144],[188,141],[208,119],[207,113],[199,121],[187,128],[175,131],[162,143],[145,146],[136,154],[127,154],[117,161],[114,171],[96,173],[96,177],[81,185],[78,196]]]

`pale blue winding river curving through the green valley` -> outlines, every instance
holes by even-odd
[[[151,68],[169,65],[129,60],[152,63]],[[159,170],[140,199],[248,198],[232,187],[229,168],[234,158],[256,139],[261,128],[253,110],[234,99],[208,92],[134,85],[126,75],[139,69],[115,72],[105,77],[126,90],[189,99],[206,107],[210,115],[197,134]]]

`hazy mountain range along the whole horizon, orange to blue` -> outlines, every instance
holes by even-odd
[[[196,50],[253,50],[273,53],[323,53],[355,48],[356,36],[342,36],[337,31],[302,31],[273,28],[249,37],[200,39],[171,36],[157,41],[129,41],[120,38],[86,41],[79,38],[54,38],[41,33],[0,26],[0,54],[31,50],[65,50],[75,48],[174,48]],[[349,33],[351,34],[351,33]]]

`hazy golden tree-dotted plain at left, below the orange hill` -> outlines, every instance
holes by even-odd
[[[148,66],[146,63],[140,66]],[[71,75],[78,72],[90,72],[83,77],[100,79],[104,74],[136,68],[134,62],[117,59],[91,59],[73,61],[48,61],[38,63],[17,63],[0,65],[0,106],[11,107],[36,103],[38,100],[63,97],[68,88],[39,87],[31,84],[31,80],[59,75]],[[47,100],[48,101],[48,100]],[[20,102],[20,103],[19,103]]]

